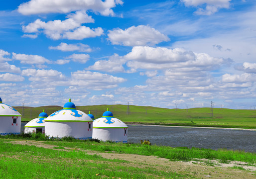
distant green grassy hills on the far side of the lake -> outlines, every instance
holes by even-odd
[[[53,112],[63,109],[61,106],[40,106],[40,107],[14,107],[23,114],[22,121],[29,121],[38,117],[44,109],[50,115]],[[95,119],[102,117],[102,114],[109,108],[114,117],[125,123],[172,125],[172,126],[199,126],[199,127],[230,127],[256,129],[256,110],[213,108],[190,108],[190,109],[168,109],[151,106],[129,105],[92,105],[77,106],[78,110],[95,116]]]

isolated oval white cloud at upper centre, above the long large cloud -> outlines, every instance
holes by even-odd
[[[148,25],[131,26],[125,30],[117,28],[108,32],[108,39],[114,45],[155,45],[170,40],[166,35]]]

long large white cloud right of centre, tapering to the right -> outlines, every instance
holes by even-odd
[[[168,49],[164,47],[133,47],[124,56],[127,66],[132,69],[164,70],[176,68],[179,71],[207,71],[230,63],[222,58],[214,58],[205,53],[194,53],[182,48]]]

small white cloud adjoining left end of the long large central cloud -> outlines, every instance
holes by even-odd
[[[125,72],[123,64],[126,60],[118,54],[109,57],[109,60],[99,60],[94,65],[86,68],[86,70],[97,70],[103,72]]]

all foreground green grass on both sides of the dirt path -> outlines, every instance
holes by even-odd
[[[12,141],[44,141],[52,149],[37,146],[13,144]],[[55,149],[55,150],[54,150]],[[192,179],[192,173],[177,173],[147,163],[133,163],[124,160],[106,159],[89,155],[86,151],[102,153],[137,154],[157,156],[170,161],[201,161],[217,159],[221,163],[246,162],[256,166],[256,153],[220,149],[148,146],[77,140],[71,137],[49,139],[41,133],[0,136],[0,176],[2,179]],[[211,165],[209,163],[209,165]],[[205,167],[204,167],[205,168]],[[243,166],[241,170],[245,170]],[[238,169],[238,168],[236,168]],[[256,175],[255,172],[252,175]]]

